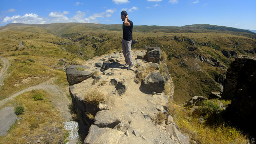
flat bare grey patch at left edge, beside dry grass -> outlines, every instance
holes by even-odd
[[[6,135],[10,126],[15,123],[17,116],[14,113],[14,107],[9,106],[0,111],[0,137]]]

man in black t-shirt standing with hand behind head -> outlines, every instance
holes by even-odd
[[[122,40],[122,47],[123,47],[123,56],[125,59],[126,64],[125,67],[129,65],[127,70],[130,70],[133,67],[133,57],[131,53],[131,46],[133,40],[133,21],[128,19],[128,14],[126,11],[121,12],[121,19],[123,21],[123,40]]]

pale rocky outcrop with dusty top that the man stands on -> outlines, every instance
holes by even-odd
[[[79,130],[82,132],[82,138],[86,137],[85,144],[158,141],[178,143],[177,139],[180,138],[175,138],[178,135],[166,132],[165,128],[156,126],[151,120],[156,113],[166,113],[168,99],[173,97],[174,85],[166,61],[159,61],[159,64],[163,65],[160,74],[159,64],[143,59],[145,53],[145,51],[132,52],[134,67],[130,71],[123,66],[125,63],[123,55],[114,53],[86,61],[87,68],[82,71],[88,71],[90,77],[78,80],[78,78],[69,78],[67,74],[72,103],[78,113]],[[123,64],[117,62],[117,59]],[[102,67],[99,67],[100,63],[103,64]],[[142,83],[136,83],[136,73],[142,72],[141,68],[149,66],[155,69],[154,72],[149,73]],[[71,66],[67,73],[76,70],[76,67]],[[148,92],[141,91],[141,85],[147,85]],[[165,85],[168,85],[168,90],[165,90]],[[103,102],[85,101],[85,95],[92,92],[102,93]],[[171,135],[173,139],[170,138]],[[181,135],[179,137],[182,137]]]

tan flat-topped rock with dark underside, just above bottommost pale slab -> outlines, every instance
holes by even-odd
[[[94,124],[98,127],[114,128],[116,125],[121,123],[122,119],[122,116],[116,116],[115,113],[112,113],[109,110],[102,110],[97,112]]]

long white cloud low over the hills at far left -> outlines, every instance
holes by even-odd
[[[49,19],[39,17],[37,14],[25,14],[24,16],[5,17],[1,23],[45,24]]]

